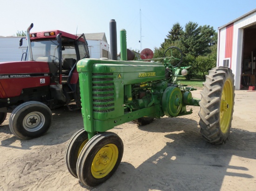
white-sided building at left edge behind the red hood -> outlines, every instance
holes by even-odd
[[[20,61],[22,53],[26,50],[26,39],[23,39],[23,45],[20,47],[20,37],[0,38],[0,62]]]

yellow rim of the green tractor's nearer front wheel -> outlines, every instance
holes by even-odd
[[[94,156],[91,172],[94,178],[103,178],[111,172],[118,159],[118,148],[114,144],[103,146]]]

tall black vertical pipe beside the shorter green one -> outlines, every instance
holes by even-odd
[[[117,36],[116,36],[116,22],[111,19],[109,22],[110,32],[110,59],[117,60]]]

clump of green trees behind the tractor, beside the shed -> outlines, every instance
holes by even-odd
[[[180,66],[191,66],[188,79],[192,76],[205,78],[208,71],[216,66],[217,33],[209,25],[199,26],[190,21],[183,31],[182,26],[175,23],[162,45],[155,47],[154,57],[163,57],[170,46],[177,46],[182,50],[183,60]]]

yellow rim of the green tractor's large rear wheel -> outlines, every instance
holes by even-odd
[[[233,110],[233,85],[230,79],[226,80],[222,90],[220,105],[220,127],[222,133],[227,133]]]

